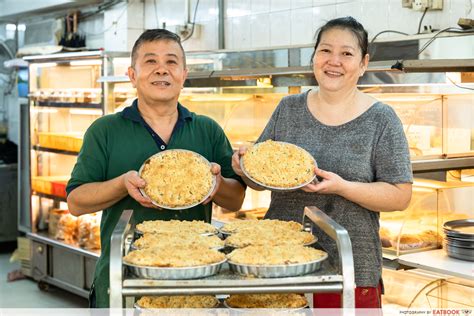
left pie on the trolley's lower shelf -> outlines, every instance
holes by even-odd
[[[213,308],[219,301],[213,295],[142,296],[141,308]]]

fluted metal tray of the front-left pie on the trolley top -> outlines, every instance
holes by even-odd
[[[200,279],[205,278],[214,274],[217,274],[224,262],[224,259],[220,262],[212,263],[205,266],[195,267],[146,267],[137,266],[129,263],[123,263],[130,272],[135,276],[144,279],[156,279],[156,280],[187,280],[187,279]]]

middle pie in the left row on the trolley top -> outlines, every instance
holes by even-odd
[[[207,247],[222,248],[224,241],[219,237],[202,236],[195,233],[164,233],[151,234],[146,233],[133,242],[137,249],[153,248],[153,247],[174,247],[175,245],[186,245],[188,247]]]

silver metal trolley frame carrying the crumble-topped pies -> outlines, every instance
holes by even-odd
[[[231,271],[224,264],[214,276],[195,280],[149,280],[131,275],[122,265],[122,256],[128,251],[134,227],[132,210],[125,210],[117,223],[110,250],[110,307],[132,308],[135,297],[144,295],[204,295],[239,293],[342,293],[342,306],[354,308],[354,262],[352,246],[347,231],[314,206],[304,210],[305,228],[314,225],[322,229],[337,243],[339,268],[329,260],[323,261],[318,271],[285,278],[246,278]],[[124,306],[125,301],[125,306]]]

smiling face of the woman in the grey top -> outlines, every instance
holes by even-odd
[[[321,90],[353,89],[364,74],[369,56],[363,56],[356,36],[333,28],[324,32],[313,58],[313,72]]]

